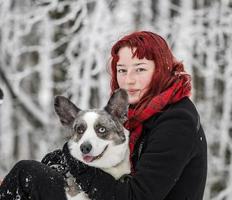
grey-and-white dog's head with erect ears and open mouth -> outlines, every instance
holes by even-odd
[[[119,164],[128,150],[128,96],[118,89],[102,110],[81,110],[63,96],[55,98],[55,111],[61,123],[71,128],[68,142],[76,159],[94,167],[110,168]]]

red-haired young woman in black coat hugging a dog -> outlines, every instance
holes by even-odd
[[[129,95],[129,119],[125,126],[130,130],[131,176],[125,181],[115,180],[100,169],[67,156],[71,174],[95,200],[202,200],[207,144],[199,115],[189,99],[190,76],[183,64],[174,58],[161,36],[146,31],[117,41],[111,55],[112,92],[123,88]],[[50,161],[56,160],[58,154],[50,154]],[[11,173],[25,179],[25,174],[31,174],[19,169],[33,171],[31,166],[36,166],[33,170],[41,168],[41,164],[23,162]],[[49,181],[43,177],[43,181]],[[6,178],[3,186],[7,184],[9,187]],[[35,181],[34,187],[32,184],[20,191],[27,199],[26,195],[36,193],[42,184]],[[60,188],[53,190],[58,191],[57,199],[64,198]],[[40,195],[40,199],[46,199],[42,194],[36,197]]]

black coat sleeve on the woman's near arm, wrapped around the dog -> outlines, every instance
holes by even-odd
[[[149,133],[135,175],[128,182],[122,183],[96,169],[81,174],[78,180],[89,197],[96,200],[162,200],[191,158],[195,133],[196,122],[188,111],[165,112]]]

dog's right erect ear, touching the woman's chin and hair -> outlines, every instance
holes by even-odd
[[[124,123],[127,120],[128,106],[128,95],[126,91],[117,89],[110,97],[105,110]]]

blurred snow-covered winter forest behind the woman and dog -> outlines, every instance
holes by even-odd
[[[106,103],[110,48],[135,30],[166,38],[192,75],[208,140],[204,199],[232,199],[232,0],[0,0],[0,177],[61,147],[55,95]]]

